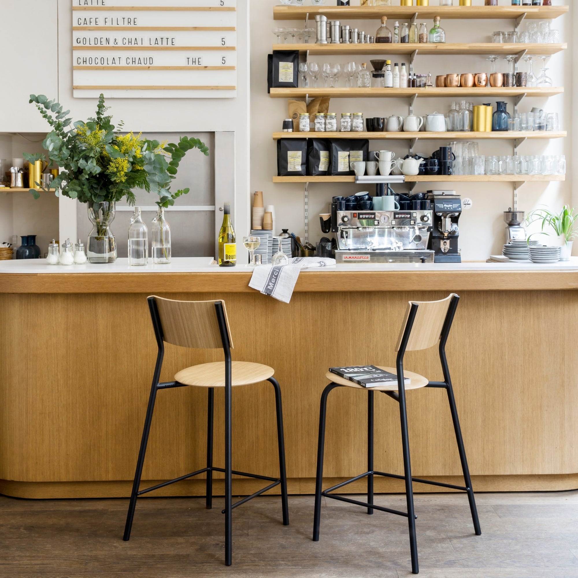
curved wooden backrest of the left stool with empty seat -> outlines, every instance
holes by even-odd
[[[173,301],[151,295],[148,301],[157,340],[192,349],[233,347],[227,309],[221,299]],[[160,327],[156,327],[155,317]]]

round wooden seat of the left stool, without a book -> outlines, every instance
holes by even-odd
[[[232,386],[247,386],[265,381],[275,373],[268,365],[249,361],[232,361],[231,365]],[[175,375],[175,381],[186,386],[225,387],[225,362],[203,363],[182,369]]]

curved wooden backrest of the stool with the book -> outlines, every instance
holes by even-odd
[[[440,301],[407,303],[395,351],[429,349],[439,343],[442,335],[447,339],[458,299],[460,297],[452,293]]]

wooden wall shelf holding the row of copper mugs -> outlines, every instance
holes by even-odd
[[[553,97],[562,94],[564,87],[514,88],[271,88],[271,98],[422,98],[440,97]]]

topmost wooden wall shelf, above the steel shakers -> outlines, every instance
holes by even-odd
[[[275,6],[275,20],[314,20],[316,14],[324,14],[329,20],[379,20],[381,16],[410,20],[414,14],[418,18],[432,19],[463,18],[464,20],[497,20],[503,18],[526,18],[548,20],[568,13],[568,6]]]

